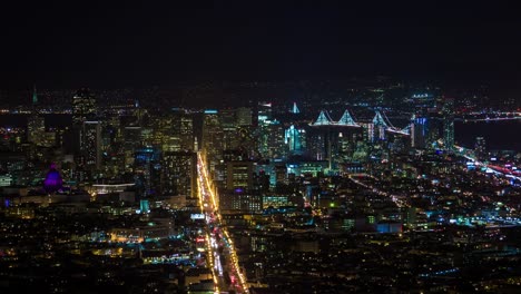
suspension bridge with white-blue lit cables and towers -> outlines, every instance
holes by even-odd
[[[385,112],[381,112],[380,110],[375,111],[375,116],[371,121],[375,127],[382,127],[387,131],[401,134],[409,136],[411,135],[411,126],[407,125],[405,128],[397,128],[391,124]],[[321,110],[321,114],[316,118],[315,121],[309,124],[312,127],[324,127],[324,126],[340,126],[340,127],[362,127],[361,124],[356,122],[351,116],[350,111],[346,109],[342,117],[338,120],[333,120],[330,114],[326,110]]]

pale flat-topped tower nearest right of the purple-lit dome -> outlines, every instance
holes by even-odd
[[[81,129],[81,155],[87,169],[101,168],[101,124],[100,121],[83,121]]]

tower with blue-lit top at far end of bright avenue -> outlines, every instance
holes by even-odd
[[[215,171],[215,166],[223,157],[223,128],[217,110],[205,110],[203,117],[201,149],[206,156],[206,161],[210,176]]]

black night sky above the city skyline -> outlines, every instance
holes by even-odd
[[[519,10],[494,1],[3,2],[1,89],[357,75],[520,89]]]

